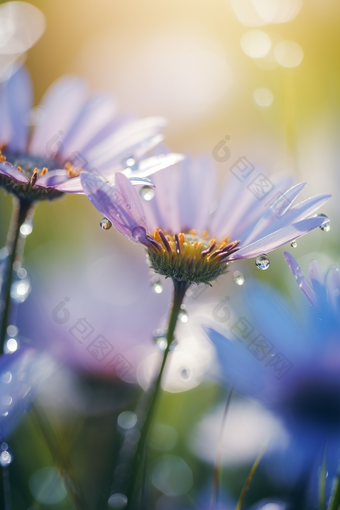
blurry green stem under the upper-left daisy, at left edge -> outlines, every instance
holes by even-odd
[[[17,257],[18,244],[20,237],[20,227],[25,222],[27,215],[32,207],[32,202],[23,199],[14,198],[13,213],[11,225],[8,231],[7,247],[9,255],[7,258],[7,267],[4,271],[3,283],[1,288],[1,303],[3,303],[3,316],[0,328],[0,354],[3,354],[4,343],[6,340],[6,332],[11,307],[11,285],[13,279],[13,264]]]

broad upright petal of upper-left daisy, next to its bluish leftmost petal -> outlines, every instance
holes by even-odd
[[[50,158],[62,153],[62,137],[79,115],[86,89],[85,81],[72,76],[63,76],[50,86],[40,105],[44,119],[33,132],[30,153]]]

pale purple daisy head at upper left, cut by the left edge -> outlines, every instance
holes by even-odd
[[[83,170],[114,182],[117,171],[135,166],[162,141],[166,125],[161,117],[116,118],[109,96],[88,96],[84,80],[63,76],[33,110],[36,125],[30,133],[32,85],[25,68],[0,87],[0,109],[0,186],[27,202],[83,193]],[[182,158],[169,157],[171,162]],[[167,156],[162,161],[166,165]],[[152,159],[146,173],[158,169]],[[139,183],[149,182],[138,173]]]

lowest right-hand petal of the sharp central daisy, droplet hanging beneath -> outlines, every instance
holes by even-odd
[[[294,223],[293,225],[288,225],[287,227],[281,228],[280,230],[277,230],[267,235],[266,237],[258,239],[248,246],[244,246],[236,253],[233,253],[230,257],[230,260],[248,259],[257,257],[262,253],[268,253],[272,250],[275,250],[276,248],[279,248],[280,246],[283,246],[286,243],[293,241],[294,239],[302,237],[310,230],[320,227],[320,225],[326,221],[328,221],[327,218],[308,218],[306,220]]]

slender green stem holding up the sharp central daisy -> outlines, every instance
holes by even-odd
[[[139,474],[139,467],[140,467],[141,459],[143,458],[143,452],[145,451],[144,449],[145,449],[146,441],[147,441],[148,434],[150,431],[150,425],[151,425],[153,417],[154,417],[154,412],[155,412],[155,408],[156,408],[156,404],[157,404],[157,400],[158,400],[158,395],[159,395],[159,392],[161,389],[161,382],[162,382],[164,368],[165,368],[165,365],[167,362],[168,354],[170,352],[171,344],[174,339],[174,333],[175,333],[175,328],[176,328],[176,324],[177,324],[178,314],[180,312],[185,293],[190,286],[190,284],[188,284],[187,282],[182,282],[182,281],[178,281],[178,280],[173,280],[173,282],[174,282],[174,299],[173,299],[173,304],[172,304],[172,309],[171,309],[171,314],[170,314],[170,319],[169,319],[168,332],[167,332],[167,336],[166,336],[167,346],[166,346],[166,349],[164,350],[163,360],[162,360],[162,364],[160,366],[160,370],[159,370],[157,379],[153,384],[153,393],[151,396],[150,407],[149,407],[145,422],[143,424],[143,427],[141,429],[141,435],[140,435],[140,439],[138,442],[138,447],[137,447],[137,450],[136,450],[136,453],[135,453],[135,456],[133,459],[131,478],[130,478],[129,488],[128,488],[128,491],[126,494],[126,496],[128,498],[128,503],[127,503],[128,510],[133,508],[133,496],[134,496],[134,492],[135,492],[135,485],[136,485],[137,477]]]

